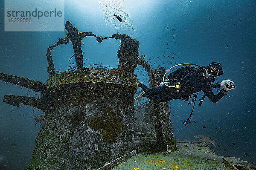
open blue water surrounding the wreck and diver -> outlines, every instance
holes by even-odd
[[[4,1],[1,0],[0,72],[45,82],[48,78],[46,49],[58,37],[65,37],[65,32],[4,32],[3,9]],[[112,12],[124,22],[116,20]],[[134,37],[140,41],[140,56],[145,55],[147,61],[155,59],[150,61],[152,68],[165,66],[169,69],[175,63],[205,66],[220,62],[224,74],[217,78],[217,82],[232,80],[236,89],[218,103],[206,98],[202,106],[196,104],[192,115],[196,124],[191,122],[186,127],[182,122],[187,119],[191,106],[181,100],[170,101],[174,136],[178,141],[196,141],[195,135],[206,135],[217,139],[220,147],[213,147],[213,150],[218,155],[256,162],[255,0],[78,0],[75,4],[66,0],[65,20],[69,20],[79,31],[103,37],[117,32]],[[94,63],[102,63],[117,68],[118,40],[108,39],[98,43],[95,37],[87,37],[82,42],[84,66],[91,68]],[[53,49],[55,69],[67,70],[72,55],[71,43]],[[168,55],[174,59],[168,58]],[[138,78],[147,84],[145,70],[140,66],[137,68],[135,73]],[[32,156],[35,137],[41,128],[33,116],[43,112],[29,106],[13,107],[2,102],[5,94],[39,96],[27,90],[0,81],[1,168],[24,168]],[[202,95],[199,92],[198,98]],[[249,156],[245,156],[244,152]]]

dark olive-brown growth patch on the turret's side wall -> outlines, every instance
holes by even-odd
[[[111,107],[105,109],[105,114],[102,117],[91,115],[87,118],[87,121],[91,128],[102,131],[103,139],[108,143],[116,141],[122,130],[122,123],[116,119],[116,113],[113,112]]]

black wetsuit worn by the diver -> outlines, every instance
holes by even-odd
[[[172,99],[183,99],[187,101],[191,94],[202,90],[209,98],[209,100],[215,103],[219,101],[225,94],[227,94],[227,92],[222,89],[217,95],[214,95],[212,92],[212,88],[219,88],[221,85],[211,84],[209,78],[199,76],[203,75],[202,70],[190,67],[189,72],[187,71],[186,67],[181,67],[175,72],[169,74],[168,78],[170,82],[166,84],[168,84],[169,86],[175,86],[177,82],[180,82],[180,88],[162,85],[149,89],[144,84],[140,84],[139,86],[145,92],[145,94],[143,94],[143,97],[149,98],[155,102],[165,102]]]

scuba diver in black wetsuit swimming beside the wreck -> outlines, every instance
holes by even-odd
[[[175,70],[168,75],[168,80],[164,80],[166,73],[179,65],[188,66],[183,66]],[[198,66],[198,68],[192,67],[192,65]],[[148,86],[145,86],[143,83],[139,83],[138,87],[141,87],[143,92],[134,98],[134,101],[137,101],[142,97],[149,98],[154,102],[165,102],[172,99],[188,101],[189,98],[192,98],[191,95],[193,94],[192,102],[189,102],[189,104],[194,103],[194,106],[192,107],[189,118],[183,122],[184,125],[187,125],[195,107],[195,101],[199,91],[202,90],[204,92],[204,96],[200,99],[199,103],[201,106],[205,96],[215,103],[226,95],[228,91],[235,88],[235,84],[231,80],[223,80],[221,83],[212,84],[212,82],[215,81],[215,77],[220,76],[223,73],[221,63],[212,62],[208,66],[183,63],[175,66],[172,66],[166,71],[163,76],[163,82],[158,87],[148,88]],[[223,89],[221,89],[218,94],[214,95],[212,89],[220,87],[223,87]]]

